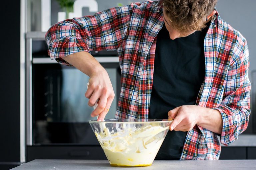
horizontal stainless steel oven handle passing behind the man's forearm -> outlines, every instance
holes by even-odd
[[[107,57],[107,56],[103,56],[103,57],[94,57],[98,62],[100,63],[113,63],[113,62],[119,62],[119,58],[118,57]],[[33,64],[56,64],[57,61],[56,60],[51,60],[50,58],[33,58],[32,60]]]

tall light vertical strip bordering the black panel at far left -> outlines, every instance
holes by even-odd
[[[20,163],[26,162],[25,134],[25,33],[26,33],[26,0],[20,6]],[[20,164],[19,163],[19,164]],[[14,164],[16,164],[14,162]],[[18,164],[18,163],[17,163]]]

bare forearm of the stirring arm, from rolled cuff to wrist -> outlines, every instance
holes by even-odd
[[[80,51],[67,55],[63,59],[91,77],[91,74],[104,70],[100,63],[88,52]]]

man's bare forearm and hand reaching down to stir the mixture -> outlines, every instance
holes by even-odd
[[[98,115],[98,121],[104,120],[115,96],[107,71],[90,53],[85,51],[65,56],[63,59],[90,77],[85,93],[89,99],[88,105],[92,107],[99,99],[98,107],[91,113],[91,116]]]

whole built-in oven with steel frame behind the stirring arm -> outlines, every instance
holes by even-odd
[[[43,33],[26,35],[27,161],[33,159],[106,159],[88,120],[93,108],[85,97],[89,77],[58,64],[47,54]],[[115,99],[106,119],[113,119],[120,95],[121,71],[116,51],[91,51],[109,74]]]

